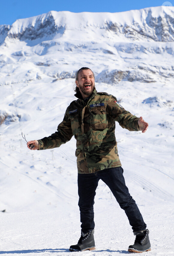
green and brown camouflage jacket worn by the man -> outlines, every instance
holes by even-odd
[[[78,173],[93,173],[121,166],[115,137],[115,121],[129,131],[139,131],[138,119],[113,95],[94,90],[87,102],[80,92],[67,108],[57,132],[39,142],[39,150],[56,148],[76,139]]]

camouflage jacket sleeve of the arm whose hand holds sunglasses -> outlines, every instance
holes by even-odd
[[[66,112],[63,121],[57,127],[57,132],[51,134],[49,137],[44,137],[43,139],[38,140],[38,150],[58,148],[61,144],[68,142],[72,136],[71,122],[68,119]]]

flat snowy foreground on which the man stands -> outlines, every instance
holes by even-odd
[[[59,209],[52,211],[4,214],[1,224],[3,240],[1,239],[0,254],[31,256],[130,254],[127,249],[134,237],[125,214],[114,201],[110,198],[95,200],[95,251],[69,251],[69,246],[79,239],[79,211],[76,206],[75,209],[68,208],[66,211],[60,206]],[[169,225],[173,219],[171,204],[140,205],[139,208],[148,223],[152,247],[152,251],[143,255],[173,255],[173,244],[169,242],[173,232],[173,225]]]

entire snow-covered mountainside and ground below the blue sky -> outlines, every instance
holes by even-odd
[[[121,13],[50,11],[0,26],[1,254],[67,255],[79,239],[75,139],[33,152],[21,133],[29,141],[56,131],[75,99],[76,71],[87,66],[98,91],[115,95],[149,123],[145,134],[116,124],[119,156],[150,230],[151,255],[174,255],[173,17],[174,7],[165,6]],[[95,223],[97,249],[85,253],[127,254],[131,227],[102,182]]]

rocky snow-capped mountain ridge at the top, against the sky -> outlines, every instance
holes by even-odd
[[[66,30],[104,30],[128,40],[174,41],[174,7],[151,7],[119,13],[72,13],[49,11],[46,14],[1,25],[1,43],[5,39],[35,40],[64,35]]]

